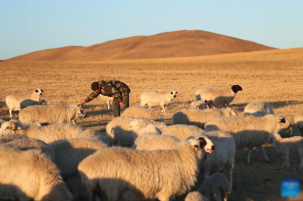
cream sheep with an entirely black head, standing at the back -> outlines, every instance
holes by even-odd
[[[227,89],[199,88],[195,92],[197,100],[213,101],[212,106],[229,106],[238,91],[242,91],[239,85],[233,85]]]

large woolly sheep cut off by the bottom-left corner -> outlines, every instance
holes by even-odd
[[[71,201],[72,194],[58,168],[37,150],[0,146],[0,197]]]

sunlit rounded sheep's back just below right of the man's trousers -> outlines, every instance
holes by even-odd
[[[142,106],[133,106],[127,108],[121,116],[128,116],[128,117],[147,117],[154,121],[163,122],[163,116],[157,111],[152,108],[146,108]]]

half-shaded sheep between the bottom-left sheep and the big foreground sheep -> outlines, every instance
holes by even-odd
[[[94,138],[67,139],[51,144],[55,150],[55,164],[60,169],[63,178],[71,177],[78,173],[78,164],[87,156],[98,149],[108,147],[106,141]]]

